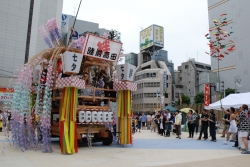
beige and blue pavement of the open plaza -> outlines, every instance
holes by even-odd
[[[148,130],[136,133],[133,145],[123,147],[114,144],[103,146],[93,143],[90,149],[81,145],[79,153],[63,155],[60,153],[59,142],[52,143],[53,153],[28,150],[21,152],[4,140],[0,132],[0,149],[5,145],[5,154],[0,155],[0,167],[148,167],[148,166],[173,166],[173,167],[248,167],[250,155],[241,155],[240,151],[233,148],[233,143],[223,145],[225,139],[219,138],[216,143],[196,141],[187,138],[183,132],[182,139],[175,136],[169,138],[157,135]]]

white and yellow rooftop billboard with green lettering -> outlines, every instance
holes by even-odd
[[[164,29],[154,24],[140,32],[140,50],[153,46],[164,47]]]

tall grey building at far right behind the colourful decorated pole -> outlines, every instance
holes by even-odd
[[[221,14],[227,14],[228,26],[223,28],[233,31],[227,40],[233,40],[236,47],[234,52],[220,61],[220,80],[224,81],[225,88],[236,87],[241,93],[250,92],[249,11],[249,0],[208,0],[209,28],[214,28],[214,19],[219,19]],[[217,59],[211,58],[211,67],[213,72],[218,72]]]

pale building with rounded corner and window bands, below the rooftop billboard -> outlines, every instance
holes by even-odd
[[[171,105],[172,76],[166,63],[150,60],[142,53],[138,54],[138,62],[134,79],[137,91],[133,92],[133,111],[154,112],[156,109]],[[163,105],[160,105],[157,93],[159,96],[164,96]]]

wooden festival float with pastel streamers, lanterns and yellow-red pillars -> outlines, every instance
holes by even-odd
[[[137,85],[135,66],[117,65],[122,43],[87,34],[64,46],[56,19],[39,31],[49,48],[20,69],[6,103],[12,130],[5,135],[12,145],[52,152],[51,136],[58,136],[61,152],[74,154],[78,142],[112,145],[117,134],[121,145],[132,144],[131,91]]]

